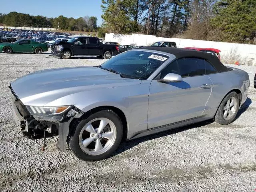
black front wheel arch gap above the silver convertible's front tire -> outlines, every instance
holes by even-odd
[[[94,114],[98,111],[107,110],[107,109],[114,111],[119,116],[119,118],[121,119],[122,124],[123,124],[122,141],[125,141],[127,139],[127,136],[128,136],[127,118],[126,118],[126,116],[125,116],[125,114],[122,110],[120,110],[119,108],[114,107],[114,106],[98,106],[98,107],[92,108],[92,109],[88,110],[87,112],[85,112],[79,119],[72,120],[72,122],[70,123],[70,127],[69,127],[69,130],[70,130],[69,131],[69,136],[72,136],[74,134],[75,127],[77,126],[77,124],[80,122],[81,119],[87,118],[91,114]]]

